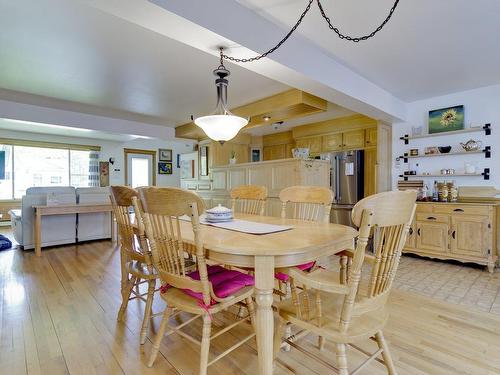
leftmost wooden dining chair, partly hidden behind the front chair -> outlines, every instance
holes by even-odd
[[[146,342],[149,321],[152,316],[158,274],[153,268],[142,218],[140,215],[130,215],[130,208],[133,206],[132,198],[137,197],[137,191],[128,186],[111,186],[110,190],[120,238],[122,303],[118,311],[118,321],[123,319],[129,301],[133,299],[145,301],[140,336],[140,342],[143,345]],[[137,209],[135,208],[135,210]],[[147,293],[141,293],[139,290],[143,283],[148,283]]]

